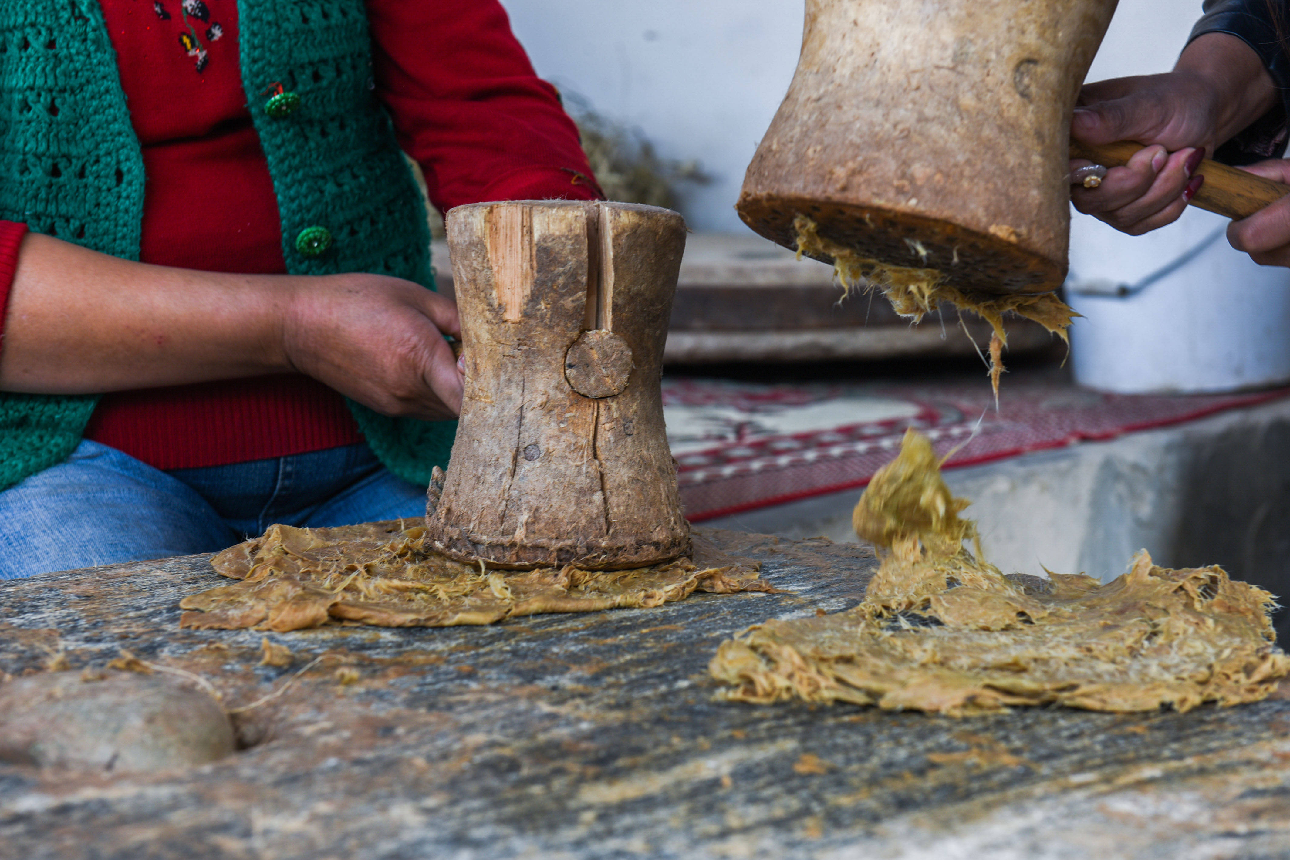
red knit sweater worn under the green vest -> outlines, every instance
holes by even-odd
[[[236,4],[99,3],[143,147],[139,259],[284,273],[277,201],[246,110],[254,94],[243,92]],[[366,5],[377,95],[440,211],[485,200],[596,197],[577,129],[555,89],[534,73],[497,0]],[[0,331],[25,232],[0,222]],[[85,438],[175,469],[361,437],[338,393],[283,374],[110,393]]]

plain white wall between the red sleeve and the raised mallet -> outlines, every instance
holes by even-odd
[[[693,230],[743,231],[743,171],[792,80],[802,0],[502,0],[538,75],[639,126],[664,157],[698,159]]]

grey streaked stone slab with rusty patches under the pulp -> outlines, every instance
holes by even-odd
[[[0,856],[1290,856],[1280,695],[962,719],[715,701],[719,642],[854,606],[875,560],[708,534],[784,593],[266,645],[179,628],[179,598],[219,584],[206,557],[5,583],[0,670],[191,673],[221,694],[239,750],[133,774],[0,765]]]

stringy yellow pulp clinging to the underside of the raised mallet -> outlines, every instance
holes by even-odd
[[[965,293],[946,282],[939,269],[891,266],[876,259],[860,257],[850,248],[840,245],[819,235],[818,226],[806,215],[793,219],[797,237],[797,257],[828,257],[833,260],[833,271],[842,284],[842,297],[853,289],[878,290],[891,302],[895,312],[915,322],[935,311],[942,302],[948,302],[960,311],[970,311],[989,322],[993,333],[989,338],[989,384],[998,401],[998,378],[1004,373],[1002,352],[1007,346],[1007,331],[1004,327],[1004,315],[1015,313],[1038,322],[1050,333],[1067,339],[1066,330],[1077,316],[1055,293],[986,295]],[[911,253],[917,254],[917,242],[911,242]]]

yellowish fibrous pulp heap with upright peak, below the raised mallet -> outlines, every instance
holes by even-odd
[[[724,642],[711,664],[721,695],[951,716],[1040,704],[1189,710],[1258,701],[1290,672],[1265,591],[1219,567],[1166,570],[1146,552],[1107,584],[1005,576],[960,516],[968,505],[911,431],[853,516],[882,554],[864,601]]]

